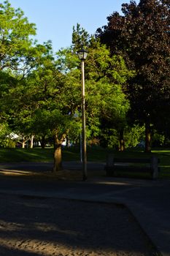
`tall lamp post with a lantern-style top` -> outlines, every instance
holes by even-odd
[[[85,59],[88,51],[81,49],[77,51],[81,61],[82,70],[82,179],[85,181],[87,176],[87,152],[86,152],[86,129],[85,129]]]

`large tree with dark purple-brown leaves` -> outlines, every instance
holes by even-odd
[[[123,15],[114,12],[108,25],[97,36],[111,53],[119,53],[129,68],[136,71],[126,94],[131,102],[131,118],[145,124],[145,151],[150,151],[151,124],[158,113],[169,109],[169,1],[141,0],[123,4]]]

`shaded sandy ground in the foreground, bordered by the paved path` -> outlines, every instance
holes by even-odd
[[[157,255],[124,206],[0,195],[1,256]]]

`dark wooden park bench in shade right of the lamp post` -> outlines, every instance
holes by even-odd
[[[118,172],[129,172],[129,173],[150,173],[151,178],[158,178],[158,162],[157,157],[150,157],[148,159],[142,158],[115,158],[114,154],[107,156],[107,165],[105,170],[107,176],[115,176]],[[131,165],[132,164],[132,165]],[[135,165],[137,164],[137,165]],[[138,165],[141,164],[141,165]]]

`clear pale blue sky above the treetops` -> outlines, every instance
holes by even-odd
[[[121,12],[121,4],[130,0],[9,0],[12,7],[20,7],[29,22],[36,23],[39,43],[48,39],[53,49],[72,44],[72,28],[80,23],[89,34],[107,24],[107,16]],[[138,1],[137,1],[138,2]]]

